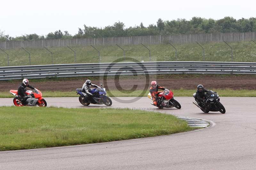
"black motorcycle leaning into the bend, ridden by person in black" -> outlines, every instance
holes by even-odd
[[[225,107],[220,103],[220,97],[217,92],[213,92],[212,90],[209,90],[206,93],[206,102],[201,101],[201,106],[198,105],[197,102],[193,101],[193,103],[199,107],[204,113],[208,113],[209,111],[211,112],[218,112],[220,113],[225,113]],[[196,93],[193,94],[193,97],[196,97]]]

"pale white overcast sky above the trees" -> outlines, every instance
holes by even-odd
[[[74,35],[78,27],[105,27],[123,22],[125,27],[156,24],[158,18],[172,20],[192,17],[236,19],[256,17],[255,0],[2,0],[0,30],[12,37],[37,33],[46,35],[67,30]]]

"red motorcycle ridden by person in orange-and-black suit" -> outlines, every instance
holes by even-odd
[[[148,93],[148,98],[153,100],[150,92]],[[164,108],[164,107],[165,108],[176,107],[177,109],[181,108],[180,103],[177,100],[173,99],[173,92],[168,89],[165,89],[164,92],[160,92],[158,94],[156,102],[158,103],[158,106],[159,106],[158,108]],[[154,105],[154,103],[150,103],[150,104],[153,106],[156,106]]]

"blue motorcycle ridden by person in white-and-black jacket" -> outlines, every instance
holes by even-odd
[[[82,89],[76,89],[76,94],[79,94],[79,102],[84,105],[88,106],[91,103],[96,105],[105,104],[106,106],[112,105],[112,100],[106,96],[106,89],[102,88],[102,84],[100,84],[100,88],[90,89],[89,92],[92,93],[92,100],[89,99],[88,95],[82,92]]]

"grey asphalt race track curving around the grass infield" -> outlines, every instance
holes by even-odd
[[[130,98],[121,98],[130,99]],[[100,144],[0,152],[0,169],[255,169],[256,98],[221,97],[226,114],[202,113],[192,97],[175,97],[181,109],[155,109],[172,115],[212,121],[212,127],[168,136]],[[48,106],[82,106],[78,98],[45,98]],[[143,97],[112,107],[150,110]],[[3,106],[12,99],[0,99]],[[90,105],[100,108],[102,105]]]

